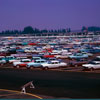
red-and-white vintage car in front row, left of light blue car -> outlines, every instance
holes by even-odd
[[[27,63],[31,62],[31,59],[22,59],[18,62],[13,62],[13,67],[20,68],[20,67],[26,67]]]

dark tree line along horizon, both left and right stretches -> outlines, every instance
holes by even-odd
[[[91,27],[85,27],[83,26],[82,29],[81,29],[81,32],[96,32],[96,31],[100,31],[100,27],[96,27],[96,26],[91,26]],[[33,28],[32,26],[27,26],[27,27],[24,27],[24,29],[21,31],[21,30],[6,30],[6,31],[2,31],[0,32],[0,35],[1,36],[9,36],[9,35],[46,35],[46,33],[49,35],[59,35],[60,33],[61,34],[65,34],[65,33],[70,33],[71,32],[71,29],[70,28],[67,28],[67,29],[51,29],[51,30],[47,30],[47,29],[43,29],[43,30],[40,30],[40,29],[37,29],[37,28]],[[80,33],[81,34],[81,33]]]

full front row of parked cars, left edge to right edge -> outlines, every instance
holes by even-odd
[[[42,68],[42,69],[48,69],[48,68],[60,68],[60,67],[67,67],[67,66],[83,66],[84,69],[98,69],[100,68],[100,56],[96,56],[94,59],[76,59],[76,60],[70,60],[68,63],[63,62],[61,59],[56,58],[42,58],[42,57],[13,57],[13,56],[7,56],[7,57],[0,57],[0,64],[7,64],[10,63],[13,65],[14,68]]]

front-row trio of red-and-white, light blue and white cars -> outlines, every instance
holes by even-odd
[[[19,67],[26,67],[26,68],[42,68],[42,69],[48,69],[48,68],[59,68],[59,67],[66,67],[67,63],[58,61],[58,60],[45,60],[45,59],[37,59],[37,60],[30,60],[30,59],[22,59],[19,62],[13,62],[13,66],[16,68]]]

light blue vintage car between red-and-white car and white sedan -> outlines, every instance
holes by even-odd
[[[35,60],[34,62],[27,63],[27,68],[41,67],[41,64],[46,63],[45,59]]]

